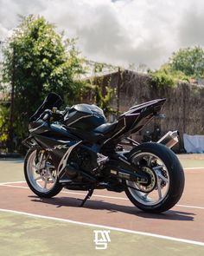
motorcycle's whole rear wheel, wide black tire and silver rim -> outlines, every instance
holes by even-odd
[[[144,212],[162,213],[174,207],[184,189],[183,168],[172,150],[148,142],[131,150],[129,161],[148,174],[149,183],[126,181],[125,193]]]

